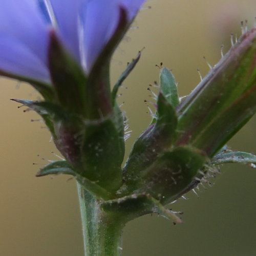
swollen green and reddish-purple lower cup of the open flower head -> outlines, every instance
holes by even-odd
[[[121,185],[123,144],[112,118],[67,119],[54,124],[55,144],[75,172],[114,193]]]

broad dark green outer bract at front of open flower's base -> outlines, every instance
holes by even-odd
[[[124,147],[116,124],[111,119],[95,123],[89,121],[84,128],[80,148],[82,176],[109,191],[118,189],[122,182]]]

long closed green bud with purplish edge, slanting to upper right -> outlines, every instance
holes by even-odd
[[[254,115],[256,29],[245,33],[178,106],[176,145],[213,157]]]

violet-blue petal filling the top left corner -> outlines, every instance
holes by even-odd
[[[35,0],[1,0],[0,35],[3,33],[23,42],[47,63],[48,28]]]

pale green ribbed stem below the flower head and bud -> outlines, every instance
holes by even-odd
[[[86,256],[120,256],[124,222],[113,212],[104,212],[92,194],[78,184]]]

